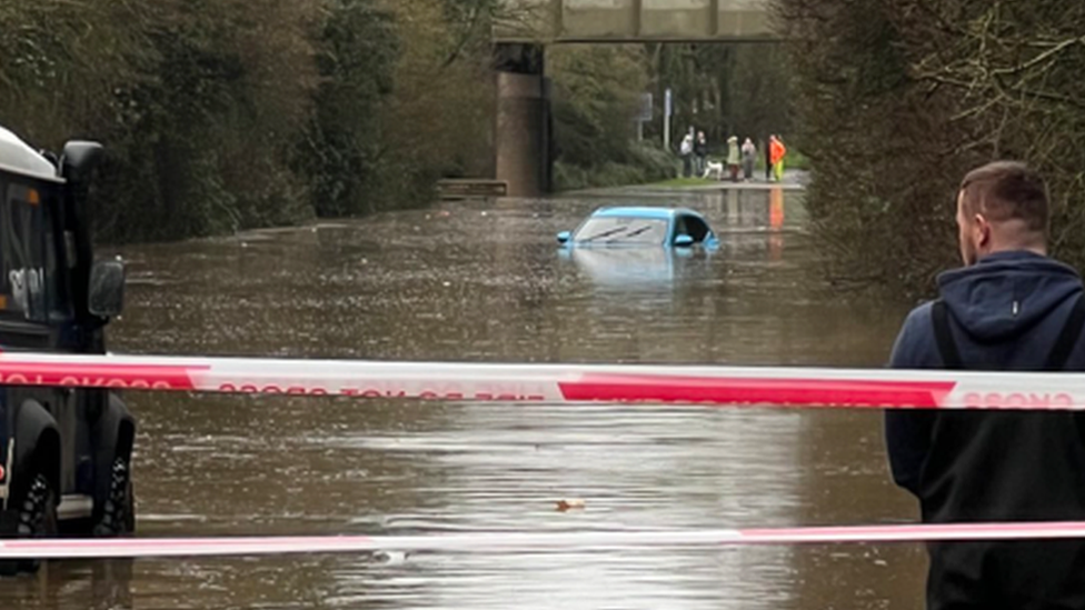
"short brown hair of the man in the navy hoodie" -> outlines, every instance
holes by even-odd
[[[995,161],[968,172],[960,182],[965,211],[992,222],[1022,220],[1029,231],[1047,234],[1051,207],[1039,173],[1018,161]]]

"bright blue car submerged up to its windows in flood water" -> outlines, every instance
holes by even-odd
[[[576,231],[558,233],[558,243],[571,247],[663,246],[690,248],[719,244],[699,213],[686,208],[599,208]]]

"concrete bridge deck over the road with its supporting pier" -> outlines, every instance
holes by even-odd
[[[550,190],[547,44],[773,40],[770,0],[506,0],[494,29],[496,178],[508,194]]]

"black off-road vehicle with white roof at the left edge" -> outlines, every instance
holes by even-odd
[[[93,261],[88,192],[101,156],[72,141],[56,159],[0,128],[0,350],[106,352],[125,267]],[[0,538],[131,532],[135,434],[112,391],[0,386]]]

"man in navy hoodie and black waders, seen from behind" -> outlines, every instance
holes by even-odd
[[[965,267],[912,311],[892,367],[1085,370],[1082,280],[1047,258],[1043,180],[1016,162],[965,177],[957,226]],[[1069,411],[887,411],[897,484],[928,523],[1085,520],[1085,419]],[[927,608],[1085,608],[1085,541],[928,546]]]

